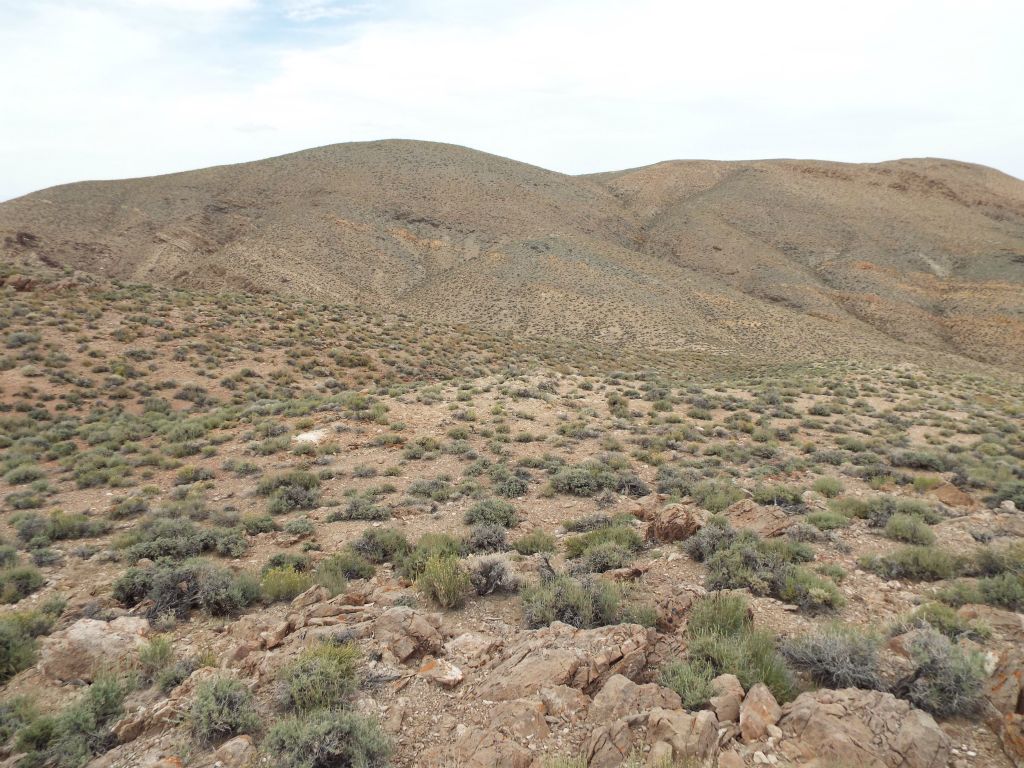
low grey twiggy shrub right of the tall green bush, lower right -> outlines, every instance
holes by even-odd
[[[782,655],[800,672],[826,688],[884,690],[880,673],[880,638],[853,627],[834,625],[791,638]]]

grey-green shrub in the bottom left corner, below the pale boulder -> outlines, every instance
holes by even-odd
[[[26,753],[22,764],[81,768],[115,745],[111,725],[123,712],[131,682],[97,677],[75,701],[56,715],[30,722],[18,731],[15,745]]]

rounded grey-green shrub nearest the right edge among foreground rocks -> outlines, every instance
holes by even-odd
[[[981,708],[985,670],[980,654],[965,651],[936,630],[915,633],[907,650],[916,669],[893,693],[938,717],[971,715]]]

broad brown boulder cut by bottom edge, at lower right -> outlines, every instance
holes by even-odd
[[[950,758],[949,737],[931,715],[881,691],[801,693],[782,709],[778,724],[780,748],[798,764],[833,760],[860,768],[945,768]]]

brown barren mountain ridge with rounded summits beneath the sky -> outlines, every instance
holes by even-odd
[[[1024,367],[1024,182],[948,160],[568,176],[420,141],[0,204],[4,258],[718,358]]]

